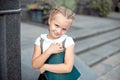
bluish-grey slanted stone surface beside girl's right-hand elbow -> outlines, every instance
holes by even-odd
[[[96,80],[98,75],[93,69],[88,67],[87,64],[84,63],[83,60],[79,59],[78,56],[75,55],[75,66],[81,73],[80,80]]]

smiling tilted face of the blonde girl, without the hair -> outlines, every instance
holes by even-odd
[[[72,20],[67,19],[61,13],[56,14],[53,19],[48,21],[49,23],[49,39],[57,39],[64,35],[71,26]]]

